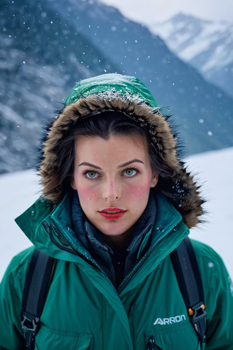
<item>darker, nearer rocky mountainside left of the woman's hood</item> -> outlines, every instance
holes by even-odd
[[[75,82],[105,71],[111,59],[35,1],[0,2],[0,173],[30,168],[41,124],[61,108]],[[114,68],[110,68],[114,66]]]

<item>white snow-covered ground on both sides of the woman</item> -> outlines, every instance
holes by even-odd
[[[191,237],[216,250],[223,258],[233,277],[233,147],[191,156],[189,170],[199,173],[202,192],[208,200],[208,223],[191,230]],[[11,258],[31,245],[14,222],[14,218],[26,210],[38,197],[39,177],[31,171],[0,176],[0,280]]]

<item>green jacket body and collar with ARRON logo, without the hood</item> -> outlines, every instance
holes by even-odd
[[[53,210],[39,199],[16,220],[36,248],[58,259],[35,349],[145,350],[151,335],[158,349],[200,349],[168,255],[189,230],[165,196],[156,196],[150,249],[118,290],[89,260],[88,252],[74,245],[70,205],[69,196]],[[229,276],[218,254],[192,243],[207,310],[205,349],[233,349]],[[29,248],[12,260],[1,283],[0,349],[23,349],[21,299],[32,251]]]

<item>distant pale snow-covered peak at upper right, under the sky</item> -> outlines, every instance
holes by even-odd
[[[233,96],[233,22],[215,22],[179,13],[149,25],[183,61]]]

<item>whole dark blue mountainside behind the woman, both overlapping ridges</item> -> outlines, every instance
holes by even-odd
[[[97,0],[0,2],[0,173],[34,166],[54,109],[77,81],[140,78],[179,125],[187,154],[233,146],[233,98],[160,37]]]

